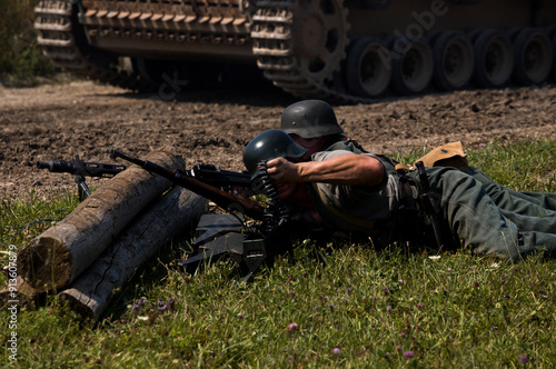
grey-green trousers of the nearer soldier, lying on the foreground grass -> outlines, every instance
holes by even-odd
[[[427,168],[430,187],[441,195],[447,227],[476,253],[518,259],[545,250],[556,257],[556,217],[532,217],[498,207],[481,182],[454,168]],[[418,178],[417,172],[409,176]]]

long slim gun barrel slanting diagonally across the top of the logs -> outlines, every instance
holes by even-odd
[[[265,209],[256,205],[254,201],[224,191],[219,188],[220,186],[217,187],[206,183],[201,180],[197,180],[192,178],[188,172],[183,172],[180,170],[172,171],[151,161],[141,160],[133,156],[127,154],[118,149],[110,149],[110,158],[121,158],[143,168],[147,171],[165,177],[171,180],[173,183],[187,188],[188,190],[214,201],[222,209],[238,210],[241,213],[245,213],[246,216],[256,220],[264,220],[266,218]]]

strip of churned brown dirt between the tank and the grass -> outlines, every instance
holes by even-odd
[[[297,101],[268,88],[170,92],[161,88],[157,94],[135,94],[83,81],[0,87],[0,198],[23,199],[31,190],[46,198],[77,191],[70,174],[39,170],[37,161],[79,156],[113,163],[110,148],[141,157],[171,144],[187,167],[206,162],[242,170],[244,147],[257,133],[279,128],[284,108]],[[386,154],[457,140],[476,148],[493,140],[556,137],[554,86],[433,94],[335,110],[348,136]],[[100,184],[91,179],[88,183]]]

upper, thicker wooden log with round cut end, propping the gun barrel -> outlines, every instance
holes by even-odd
[[[169,147],[149,153],[147,159],[172,170],[185,167]],[[142,208],[170,186],[168,179],[130,166],[21,249],[20,276],[39,292],[67,288]]]

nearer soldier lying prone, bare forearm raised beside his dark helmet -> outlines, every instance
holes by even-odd
[[[334,150],[319,151],[310,160],[302,160],[305,152],[307,149],[286,132],[270,130],[247,144],[244,162],[252,179],[265,171],[281,199],[307,211],[316,222],[331,230],[359,235],[404,232],[403,206],[413,202],[419,193],[407,191],[399,178],[389,173],[384,159],[373,153]],[[259,166],[261,160],[266,161],[264,167]],[[438,197],[437,212],[419,210],[429,219],[438,216],[440,233],[447,232],[455,245],[460,241],[476,253],[509,259],[536,250],[556,256],[556,229],[546,219],[502,213],[483,184],[458,169],[434,167],[425,171],[431,193]],[[407,177],[423,184],[417,171]],[[416,208],[420,206],[415,203]],[[530,219],[525,221],[525,218]],[[423,219],[423,223],[426,225],[427,219]],[[435,221],[433,225],[438,226]]]

